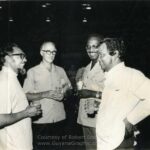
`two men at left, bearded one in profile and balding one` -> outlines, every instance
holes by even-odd
[[[32,150],[32,143],[35,150],[46,149],[42,142],[63,133],[63,99],[72,86],[64,69],[53,64],[56,52],[53,42],[42,44],[42,61],[29,69],[22,88],[17,75],[25,71],[25,53],[16,44],[1,49],[0,149]]]

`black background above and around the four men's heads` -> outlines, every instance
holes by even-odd
[[[83,4],[90,4],[91,10]],[[46,7],[42,7],[46,5]],[[50,22],[46,22],[46,17]],[[86,17],[87,22],[82,22]],[[9,21],[13,18],[13,21]],[[26,52],[26,68],[41,60],[39,47],[45,40],[57,44],[55,63],[69,77],[85,66],[85,42],[89,33],[123,37],[127,47],[126,64],[150,76],[150,1],[1,1],[0,45],[15,42]],[[140,126],[149,137],[149,119]]]

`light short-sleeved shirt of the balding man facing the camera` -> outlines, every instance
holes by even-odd
[[[63,68],[52,64],[52,70],[49,71],[42,63],[40,63],[29,69],[23,88],[25,93],[55,90],[56,87],[60,87],[61,80],[71,86]],[[63,102],[43,98],[40,100],[40,104],[42,117],[34,121],[34,123],[55,123],[66,118]]]

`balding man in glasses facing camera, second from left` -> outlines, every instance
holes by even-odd
[[[42,61],[29,69],[24,82],[28,100],[42,106],[42,116],[33,121],[35,149],[51,148],[53,140],[59,145],[64,131],[66,114],[63,98],[71,89],[71,83],[64,69],[53,63],[56,52],[53,42],[44,42],[40,48]],[[40,147],[40,143],[44,142],[48,144]]]

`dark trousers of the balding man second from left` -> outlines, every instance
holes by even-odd
[[[61,149],[62,136],[65,135],[65,121],[47,124],[32,124],[34,150]]]

